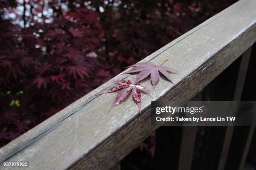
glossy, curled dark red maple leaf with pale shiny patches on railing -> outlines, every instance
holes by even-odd
[[[111,87],[110,89],[97,94],[97,95],[101,95],[104,93],[114,92],[114,91],[122,89],[116,95],[115,101],[113,102],[110,110],[113,109],[113,107],[115,107],[116,105],[123,102],[125,100],[125,98],[130,94],[130,92],[132,92],[133,100],[138,105],[139,111],[141,113],[141,91],[146,92],[146,93],[151,93],[151,92],[146,87],[143,87],[139,83],[133,84],[130,80],[127,80],[127,81],[126,80],[117,80],[117,81],[113,81],[113,82],[117,82],[120,85]]]

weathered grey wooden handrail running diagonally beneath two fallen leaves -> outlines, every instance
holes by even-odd
[[[240,0],[145,60],[174,68],[175,85],[161,78],[154,97],[142,95],[142,113],[131,97],[108,112],[114,94],[95,97],[106,82],[0,149],[0,161],[29,161],[28,169],[113,167],[157,127],[151,127],[151,100],[189,100],[256,41],[256,1]],[[135,80],[118,75],[113,80]],[[151,87],[150,81],[143,81]]]

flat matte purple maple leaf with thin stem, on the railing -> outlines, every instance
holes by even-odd
[[[168,59],[167,59],[168,60]],[[170,67],[162,66],[167,60],[165,60],[161,65],[154,65],[152,62],[139,62],[129,67],[133,67],[131,70],[124,72],[122,74],[128,74],[133,72],[140,72],[135,80],[135,83],[140,82],[150,75],[151,83],[153,88],[156,86],[156,82],[159,80],[159,72],[161,72],[170,82],[173,83],[172,78],[169,75],[169,72],[176,72],[174,69]],[[122,75],[121,74],[121,75]]]

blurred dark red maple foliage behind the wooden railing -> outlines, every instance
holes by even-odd
[[[234,2],[0,0],[0,147]]]

